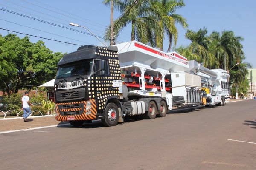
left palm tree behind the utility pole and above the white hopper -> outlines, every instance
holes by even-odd
[[[128,24],[131,24],[131,41],[136,40],[144,44],[154,46],[154,36],[152,30],[157,26],[157,20],[151,11],[150,3],[152,0],[140,0],[133,6],[134,0],[114,0],[114,8],[122,15],[114,21],[115,36]],[[103,4],[110,5],[110,0],[104,0]],[[131,7],[132,6],[132,7]],[[110,28],[107,28],[105,40],[109,40]]]

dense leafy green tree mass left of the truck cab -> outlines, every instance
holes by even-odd
[[[43,41],[32,43],[29,37],[0,35],[0,89],[7,94],[20,88],[32,88],[53,79],[60,52],[53,53]]]

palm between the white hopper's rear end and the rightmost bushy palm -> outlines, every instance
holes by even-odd
[[[192,41],[188,50],[197,56],[198,62],[203,62],[208,68],[218,67],[215,55],[208,51],[211,40],[207,37],[207,28],[199,29],[197,32],[187,30],[185,37]]]

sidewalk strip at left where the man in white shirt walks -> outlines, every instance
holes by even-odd
[[[28,122],[23,122],[23,119],[2,120],[0,121],[0,131],[19,130],[19,129],[28,129],[33,127],[58,125],[59,123],[60,121],[55,120],[55,116],[37,117],[37,118],[29,117]]]

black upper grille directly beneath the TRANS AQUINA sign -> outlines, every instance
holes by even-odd
[[[85,88],[56,92],[56,99],[59,102],[70,101],[74,99],[83,99],[84,97],[85,97]]]

